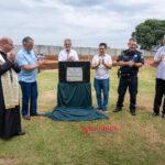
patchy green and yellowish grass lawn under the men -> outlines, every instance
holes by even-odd
[[[151,116],[154,86],[155,69],[143,67],[139,74],[138,116],[129,113],[128,94],[123,111],[113,113],[118,87],[113,68],[108,120],[57,122],[43,117],[22,120],[24,136],[0,140],[0,164],[165,165],[165,120]],[[56,105],[57,70],[38,75],[38,109],[52,111]],[[94,87],[92,102],[96,106]],[[88,125],[118,125],[120,130],[84,134],[81,128]]]

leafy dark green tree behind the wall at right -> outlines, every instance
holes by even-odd
[[[165,20],[146,20],[135,28],[132,36],[136,38],[142,50],[151,51],[153,46],[158,46],[165,35]]]

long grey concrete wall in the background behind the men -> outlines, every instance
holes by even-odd
[[[20,45],[15,45],[15,52],[18,52],[21,48]],[[98,52],[98,48],[96,47],[74,47],[78,55],[95,55]],[[47,46],[47,45],[36,45],[34,47],[34,51],[36,54],[43,54],[43,55],[57,55],[63,50],[62,46]],[[121,51],[119,48],[108,48],[108,54],[112,56],[119,56]],[[152,56],[152,52],[147,51],[141,51],[144,56]]]

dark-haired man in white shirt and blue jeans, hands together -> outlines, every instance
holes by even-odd
[[[99,54],[92,58],[91,68],[95,69],[95,89],[98,110],[107,111],[109,97],[109,69],[112,67],[111,56],[107,54],[107,44],[100,43]],[[103,98],[101,97],[103,94]]]

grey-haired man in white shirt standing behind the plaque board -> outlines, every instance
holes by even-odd
[[[64,50],[58,55],[58,62],[78,62],[78,54],[72,48],[72,40],[66,38],[64,41]]]

